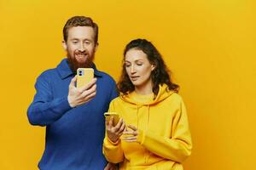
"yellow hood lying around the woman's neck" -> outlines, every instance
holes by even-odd
[[[168,98],[170,95],[172,95],[174,92],[171,90],[168,90],[168,86],[166,84],[163,85],[159,85],[159,92],[157,94],[157,96],[148,102],[138,102],[135,100],[135,98],[137,97],[138,94],[136,94],[135,92],[132,92],[130,94],[126,94],[120,95],[120,99],[124,100],[125,102],[128,102],[132,105],[155,105],[157,103],[159,103],[160,101]]]

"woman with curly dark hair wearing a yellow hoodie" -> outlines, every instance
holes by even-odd
[[[120,96],[109,106],[121,119],[116,126],[113,118],[106,122],[103,142],[107,160],[120,169],[181,170],[191,153],[186,109],[168,72],[151,42],[127,44]]]

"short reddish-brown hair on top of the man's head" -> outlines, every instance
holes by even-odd
[[[99,28],[98,28],[97,24],[95,22],[93,22],[93,20],[91,20],[90,17],[86,17],[86,16],[73,16],[72,18],[67,20],[65,26],[63,27],[63,38],[64,38],[65,42],[67,42],[69,28],[72,28],[74,26],[90,26],[90,27],[92,27],[94,30],[94,33],[95,33],[94,41],[96,44],[98,43]]]

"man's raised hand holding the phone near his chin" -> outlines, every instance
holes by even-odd
[[[77,76],[69,84],[67,100],[71,107],[76,107],[90,101],[96,96],[96,78],[92,79],[82,88],[76,88]]]

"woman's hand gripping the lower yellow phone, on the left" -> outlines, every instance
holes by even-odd
[[[120,118],[117,125],[113,127],[113,116],[111,116],[109,122],[106,121],[106,129],[108,139],[110,139],[113,143],[116,143],[125,130],[125,122],[122,118]]]

